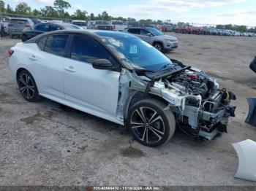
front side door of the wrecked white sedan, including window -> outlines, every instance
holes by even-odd
[[[91,63],[95,59],[112,60],[110,53],[99,42],[88,36],[73,36],[70,59],[64,62],[65,98],[115,116],[120,73],[94,69]]]

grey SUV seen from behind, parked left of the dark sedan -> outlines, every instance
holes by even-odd
[[[11,18],[8,24],[8,34],[13,38],[14,36],[21,36],[23,30],[31,28],[34,23],[29,18]]]

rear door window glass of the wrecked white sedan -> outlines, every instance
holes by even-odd
[[[45,52],[63,56],[67,44],[67,34],[48,36],[45,44]]]

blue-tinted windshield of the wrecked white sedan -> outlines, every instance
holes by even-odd
[[[100,31],[96,34],[102,36],[102,41],[116,53],[124,65],[134,69],[158,71],[163,66],[173,64],[162,52],[135,36]]]

